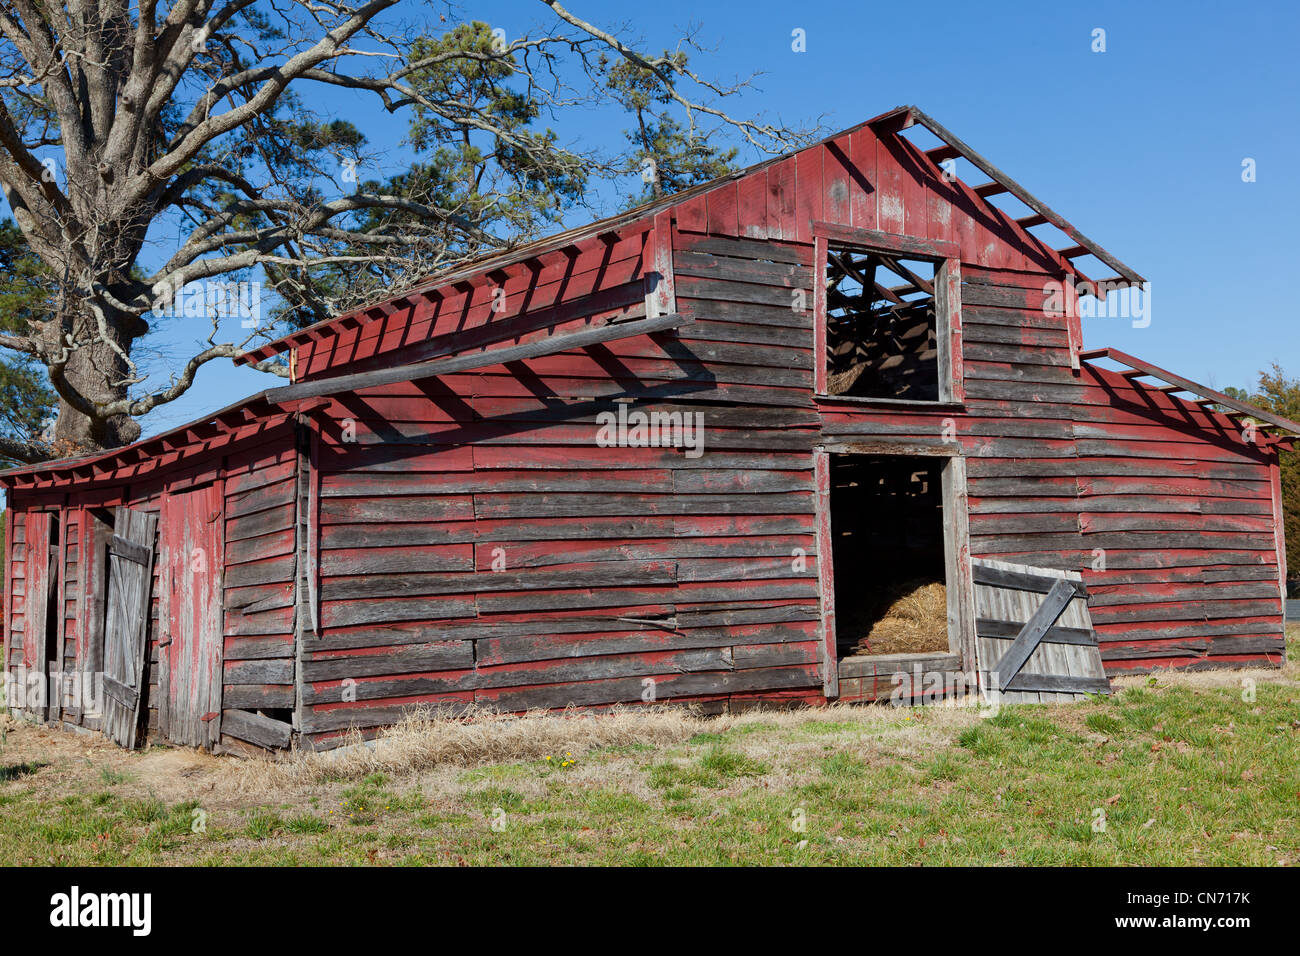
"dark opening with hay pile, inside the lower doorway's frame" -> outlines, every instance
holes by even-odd
[[[836,652],[949,650],[944,458],[831,455]]]

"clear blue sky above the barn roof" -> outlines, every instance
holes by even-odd
[[[649,49],[698,26],[710,48],[693,57],[701,72],[764,74],[731,103],[733,113],[820,118],[831,131],[919,105],[1150,280],[1150,325],[1089,320],[1088,347],[1112,345],[1218,388],[1251,386],[1274,360],[1300,376],[1288,295],[1300,219],[1300,5],[567,3]],[[407,16],[430,9],[421,4]],[[537,0],[469,10],[511,38],[550,17]],[[796,29],[806,34],[806,52],[792,51]],[[1105,52],[1092,51],[1096,29],[1105,30]],[[384,151],[387,168],[365,174],[410,159],[404,121],[385,117],[373,99],[332,92],[307,100],[324,116],[352,120]],[[554,125],[567,142],[620,144],[607,114],[578,112]],[[1256,163],[1254,182],[1242,179],[1244,159]],[[612,183],[595,200],[611,211]],[[578,211],[569,225],[590,217]],[[186,355],[194,326],[176,323],[153,338],[162,352]],[[146,431],[277,384],[212,363]]]

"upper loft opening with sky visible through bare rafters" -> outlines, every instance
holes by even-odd
[[[940,399],[936,272],[926,259],[827,246],[827,394]]]

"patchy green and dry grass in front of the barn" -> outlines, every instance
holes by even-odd
[[[1158,674],[984,718],[425,721],[282,763],[10,724],[0,864],[1296,864],[1297,672]]]

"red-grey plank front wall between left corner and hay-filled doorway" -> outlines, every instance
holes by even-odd
[[[326,745],[421,702],[816,698],[811,324],[770,289],[784,304],[754,321],[316,411],[303,731]],[[703,454],[597,446],[619,397],[702,414]]]

